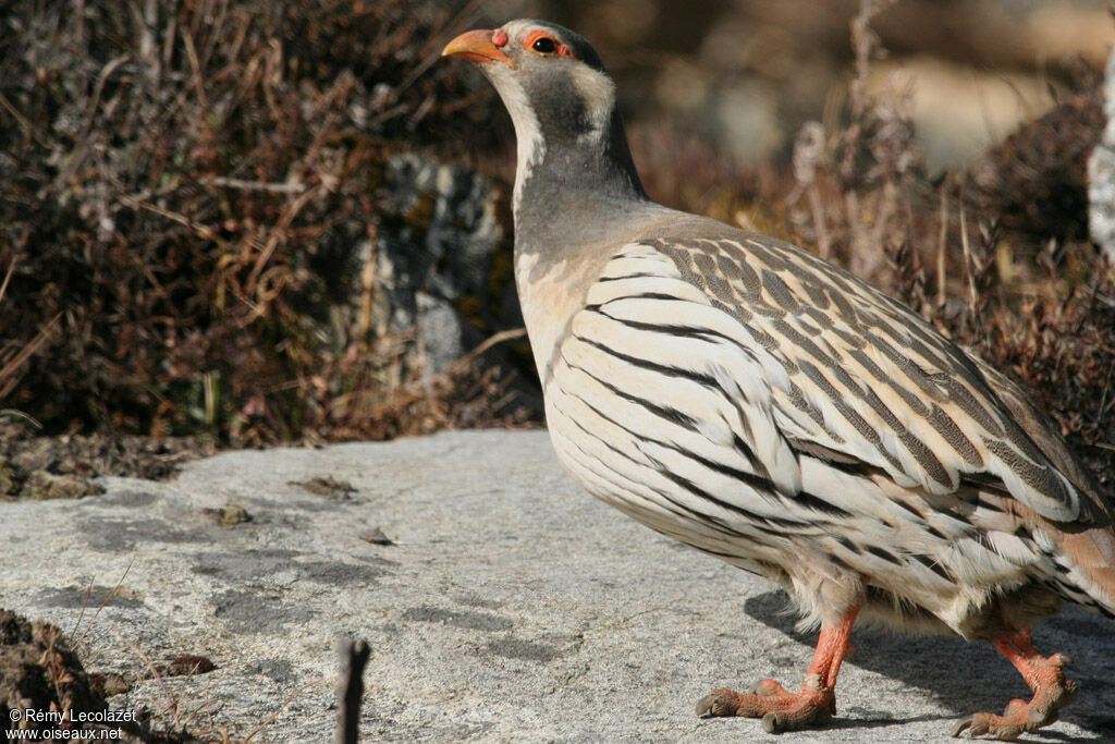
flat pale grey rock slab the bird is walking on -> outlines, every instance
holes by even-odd
[[[331,741],[350,634],[371,645],[368,741],[773,741],[694,705],[767,675],[796,687],[812,655],[774,587],[595,502],[543,432],[236,452],[100,484],[0,503],[0,606],[76,628],[90,671],[143,678],[114,708],[176,704],[193,731],[274,715],[256,741]],[[1037,630],[1075,658],[1080,696],[1028,741],[1115,737],[1112,631],[1077,610]],[[1027,692],[987,647],[852,640],[835,725],[794,741],[943,741]],[[216,668],[145,671],[187,655]]]

